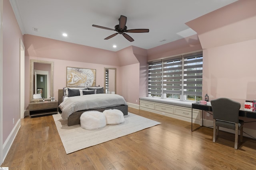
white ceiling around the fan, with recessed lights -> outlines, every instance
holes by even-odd
[[[236,0],[10,0],[22,34],[57,39],[110,51],[134,45],[150,49],[196,34],[185,23]],[[114,29],[120,15],[128,29],[149,29],[149,33],[116,33],[92,27]],[[38,31],[34,31],[34,28]],[[63,37],[62,33],[67,33]],[[162,41],[164,40],[164,41]],[[117,45],[114,49],[112,46]]]

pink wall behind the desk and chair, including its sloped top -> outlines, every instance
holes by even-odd
[[[255,0],[239,0],[186,23],[203,47],[203,94],[210,100],[231,98],[243,107],[256,98],[255,6]]]

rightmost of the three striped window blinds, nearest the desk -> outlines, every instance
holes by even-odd
[[[184,95],[202,96],[203,55],[184,57]]]

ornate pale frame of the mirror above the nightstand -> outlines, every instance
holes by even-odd
[[[34,94],[34,63],[42,63],[42,64],[51,64],[51,72],[50,72],[50,96],[53,96],[53,62],[52,61],[42,61],[42,60],[33,60],[30,59],[30,102],[34,102],[33,94]],[[38,99],[39,101],[43,101],[43,99]],[[45,99],[45,100],[50,100]]]

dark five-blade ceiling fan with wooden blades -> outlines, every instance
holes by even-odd
[[[114,34],[106,37],[105,39],[110,39],[110,38],[112,38],[112,37],[114,37],[118,34],[122,34],[130,42],[134,41],[134,39],[126,33],[148,33],[149,32],[149,29],[127,29],[126,20],[127,20],[127,17],[121,15],[120,18],[119,18],[119,25],[116,25],[115,29],[102,27],[102,26],[99,26],[99,25],[92,25],[92,26],[102,28],[102,29],[109,29],[109,30],[118,32],[118,33],[114,33]]]

